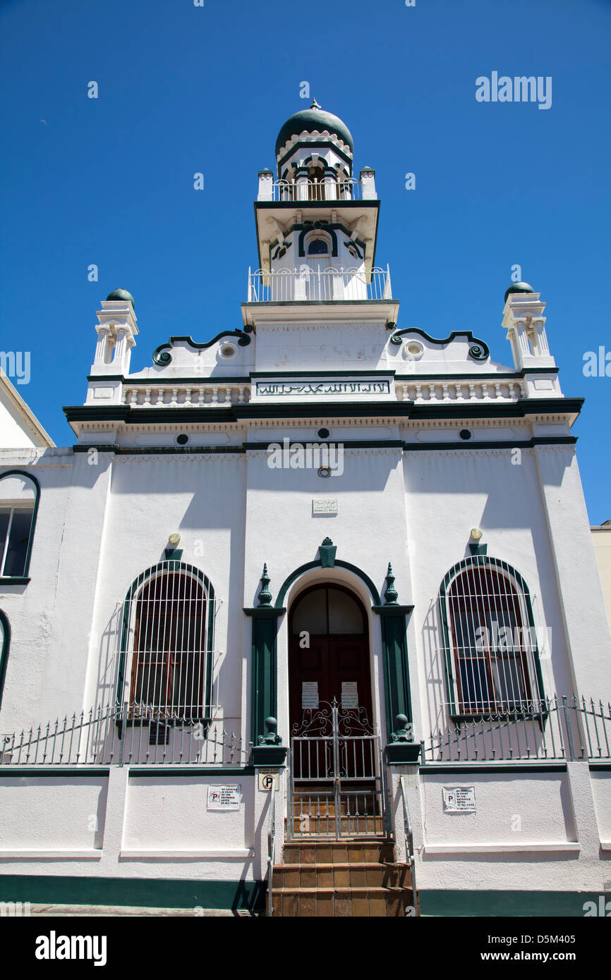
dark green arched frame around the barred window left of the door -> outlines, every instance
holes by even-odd
[[[121,708],[124,702],[124,692],[126,684],[127,662],[133,651],[130,649],[129,633],[134,603],[137,603],[138,595],[142,589],[152,581],[153,578],[163,574],[185,574],[190,575],[202,586],[209,607],[207,636],[206,636],[206,663],[205,663],[205,689],[204,689],[204,711],[199,719],[192,720],[209,721],[212,716],[212,682],[213,682],[213,651],[214,651],[214,623],[215,623],[215,592],[212,582],[207,575],[195,565],[186,564],[178,561],[164,561],[151,565],[134,578],[127,590],[124,600],[123,618],[121,626],[121,648],[119,654],[119,669],[117,676],[117,707]]]

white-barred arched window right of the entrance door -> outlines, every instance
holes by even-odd
[[[542,683],[522,576],[495,559],[465,559],[445,576],[439,607],[450,713],[537,711]]]

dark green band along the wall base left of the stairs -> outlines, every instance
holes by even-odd
[[[251,858],[244,858],[244,863]],[[262,881],[201,881],[168,878],[99,878],[63,875],[0,875],[2,901],[41,905],[258,909]]]

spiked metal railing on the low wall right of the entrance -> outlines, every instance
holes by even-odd
[[[611,759],[611,705],[577,695],[541,698],[536,710],[464,718],[422,743],[425,762],[566,762]]]

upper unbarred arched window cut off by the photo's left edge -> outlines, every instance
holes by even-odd
[[[0,475],[0,582],[27,582],[38,481],[20,469]]]

